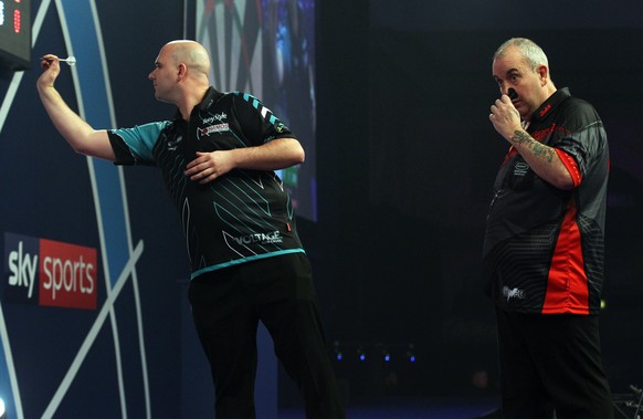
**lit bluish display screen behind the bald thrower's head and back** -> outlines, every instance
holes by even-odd
[[[306,163],[277,175],[297,216],[316,221],[315,0],[198,0],[196,24],[214,87],[259,97],[302,143]]]

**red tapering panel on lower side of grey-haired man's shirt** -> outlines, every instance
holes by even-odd
[[[542,314],[589,314],[589,289],[576,214],[572,200],[551,259]]]

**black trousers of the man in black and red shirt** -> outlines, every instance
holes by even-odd
[[[496,310],[505,418],[610,419],[595,315]]]

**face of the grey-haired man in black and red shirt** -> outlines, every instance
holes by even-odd
[[[494,60],[493,76],[502,94],[507,94],[509,88],[516,91],[518,97],[512,103],[525,121],[529,121],[531,114],[549,96],[544,88],[548,76],[547,67],[541,65],[533,71],[515,46],[509,46],[503,55]]]

